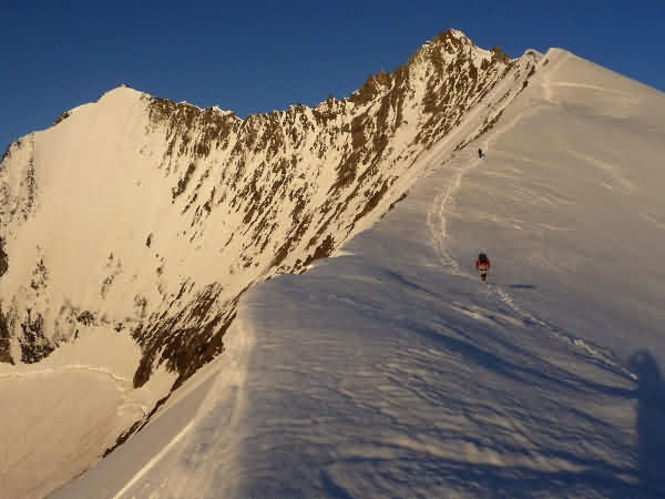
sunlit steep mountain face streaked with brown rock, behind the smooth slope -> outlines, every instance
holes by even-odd
[[[2,373],[113,333],[140,346],[134,388],[161,373],[146,388],[161,406],[164,379],[177,388],[224,352],[243,293],[371,226],[437,165],[432,147],[493,126],[535,61],[452,30],[313,109],[241,120],[123,85],[63,113],[0,163]]]

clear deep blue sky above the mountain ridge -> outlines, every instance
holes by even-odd
[[[511,57],[562,47],[665,90],[665,1],[543,3],[1,0],[0,154],[121,82],[243,118],[345,96],[448,28]]]

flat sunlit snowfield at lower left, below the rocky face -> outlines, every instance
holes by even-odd
[[[149,414],[175,377],[133,389],[140,358],[130,337],[93,328],[39,364],[0,364],[0,497],[44,497]]]

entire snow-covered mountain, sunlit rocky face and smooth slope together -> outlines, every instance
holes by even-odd
[[[0,164],[2,489],[122,432],[55,497],[657,490],[664,116],[454,30],[314,109],[69,111]]]

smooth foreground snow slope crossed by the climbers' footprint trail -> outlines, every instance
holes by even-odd
[[[663,497],[664,119],[549,51],[339,257],[244,295],[227,363],[55,497]]]

